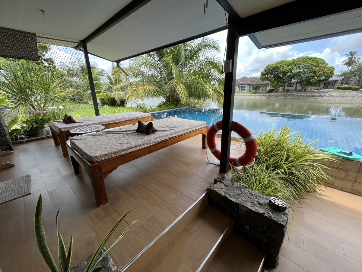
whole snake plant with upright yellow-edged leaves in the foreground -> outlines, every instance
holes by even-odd
[[[128,211],[125,215],[123,215],[117,221],[117,223],[115,223],[115,225],[113,226],[111,231],[103,239],[101,244],[98,246],[97,250],[94,252],[93,256],[90,258],[87,268],[85,269],[85,272],[100,272],[102,270],[103,266],[96,267],[96,265],[99,263],[100,260],[102,260],[102,258],[108,253],[108,251],[110,251],[111,248],[113,248],[115,246],[115,244],[117,244],[117,242],[119,240],[121,240],[121,238],[132,227],[132,225],[138,221],[137,220],[137,221],[134,221],[131,224],[129,224],[128,227],[122,232],[122,234],[119,235],[117,237],[117,239],[115,239],[113,241],[113,243],[111,243],[104,252],[101,252],[102,248],[105,246],[105,244],[107,243],[110,236],[113,234],[113,232],[116,230],[118,225],[122,222],[122,220],[126,217],[126,215],[130,211]],[[71,259],[72,259],[72,252],[73,252],[73,235],[71,236],[70,246],[69,246],[69,249],[67,252],[66,247],[63,242],[62,235],[60,235],[59,228],[58,228],[58,215],[59,215],[59,210],[58,210],[58,213],[56,213],[56,231],[57,231],[57,235],[58,235],[59,269],[55,264],[55,261],[50,253],[49,247],[48,247],[48,245],[46,243],[46,239],[45,239],[45,231],[44,231],[44,228],[42,225],[42,196],[41,195],[39,196],[39,199],[37,202],[37,207],[35,209],[35,215],[34,215],[35,239],[37,241],[39,251],[42,254],[46,264],[50,268],[50,271],[52,271],[52,272],[69,272],[70,263],[71,263]]]

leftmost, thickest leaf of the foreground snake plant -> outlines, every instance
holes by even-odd
[[[46,243],[45,231],[42,225],[42,195],[39,195],[37,207],[35,208],[34,230],[35,230],[35,240],[37,241],[37,245],[40,253],[43,256],[43,259],[50,268],[50,271],[58,272],[58,268],[56,267],[54,259],[51,256],[49,247]]]

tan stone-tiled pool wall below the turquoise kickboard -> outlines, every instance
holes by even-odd
[[[323,180],[324,185],[362,196],[362,161],[335,158],[338,162],[323,163],[331,168],[325,173],[332,178]]]

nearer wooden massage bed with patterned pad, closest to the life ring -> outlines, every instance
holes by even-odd
[[[119,165],[199,134],[206,148],[205,122],[169,117],[155,120],[153,126],[158,131],[150,135],[135,132],[133,125],[69,138],[66,146],[74,173],[88,174],[98,206],[108,203],[104,179]]]

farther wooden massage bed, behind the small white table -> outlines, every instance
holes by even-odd
[[[136,124],[138,120],[148,122],[153,120],[153,116],[149,113],[138,111],[122,112],[118,114],[108,114],[99,116],[90,116],[85,118],[75,119],[76,123],[65,124],[62,120],[54,120],[50,124],[51,135],[55,145],[62,147],[63,157],[68,157],[66,142],[75,134],[70,133],[70,130],[85,127],[88,125],[103,125],[105,129],[121,127],[123,125]]]

